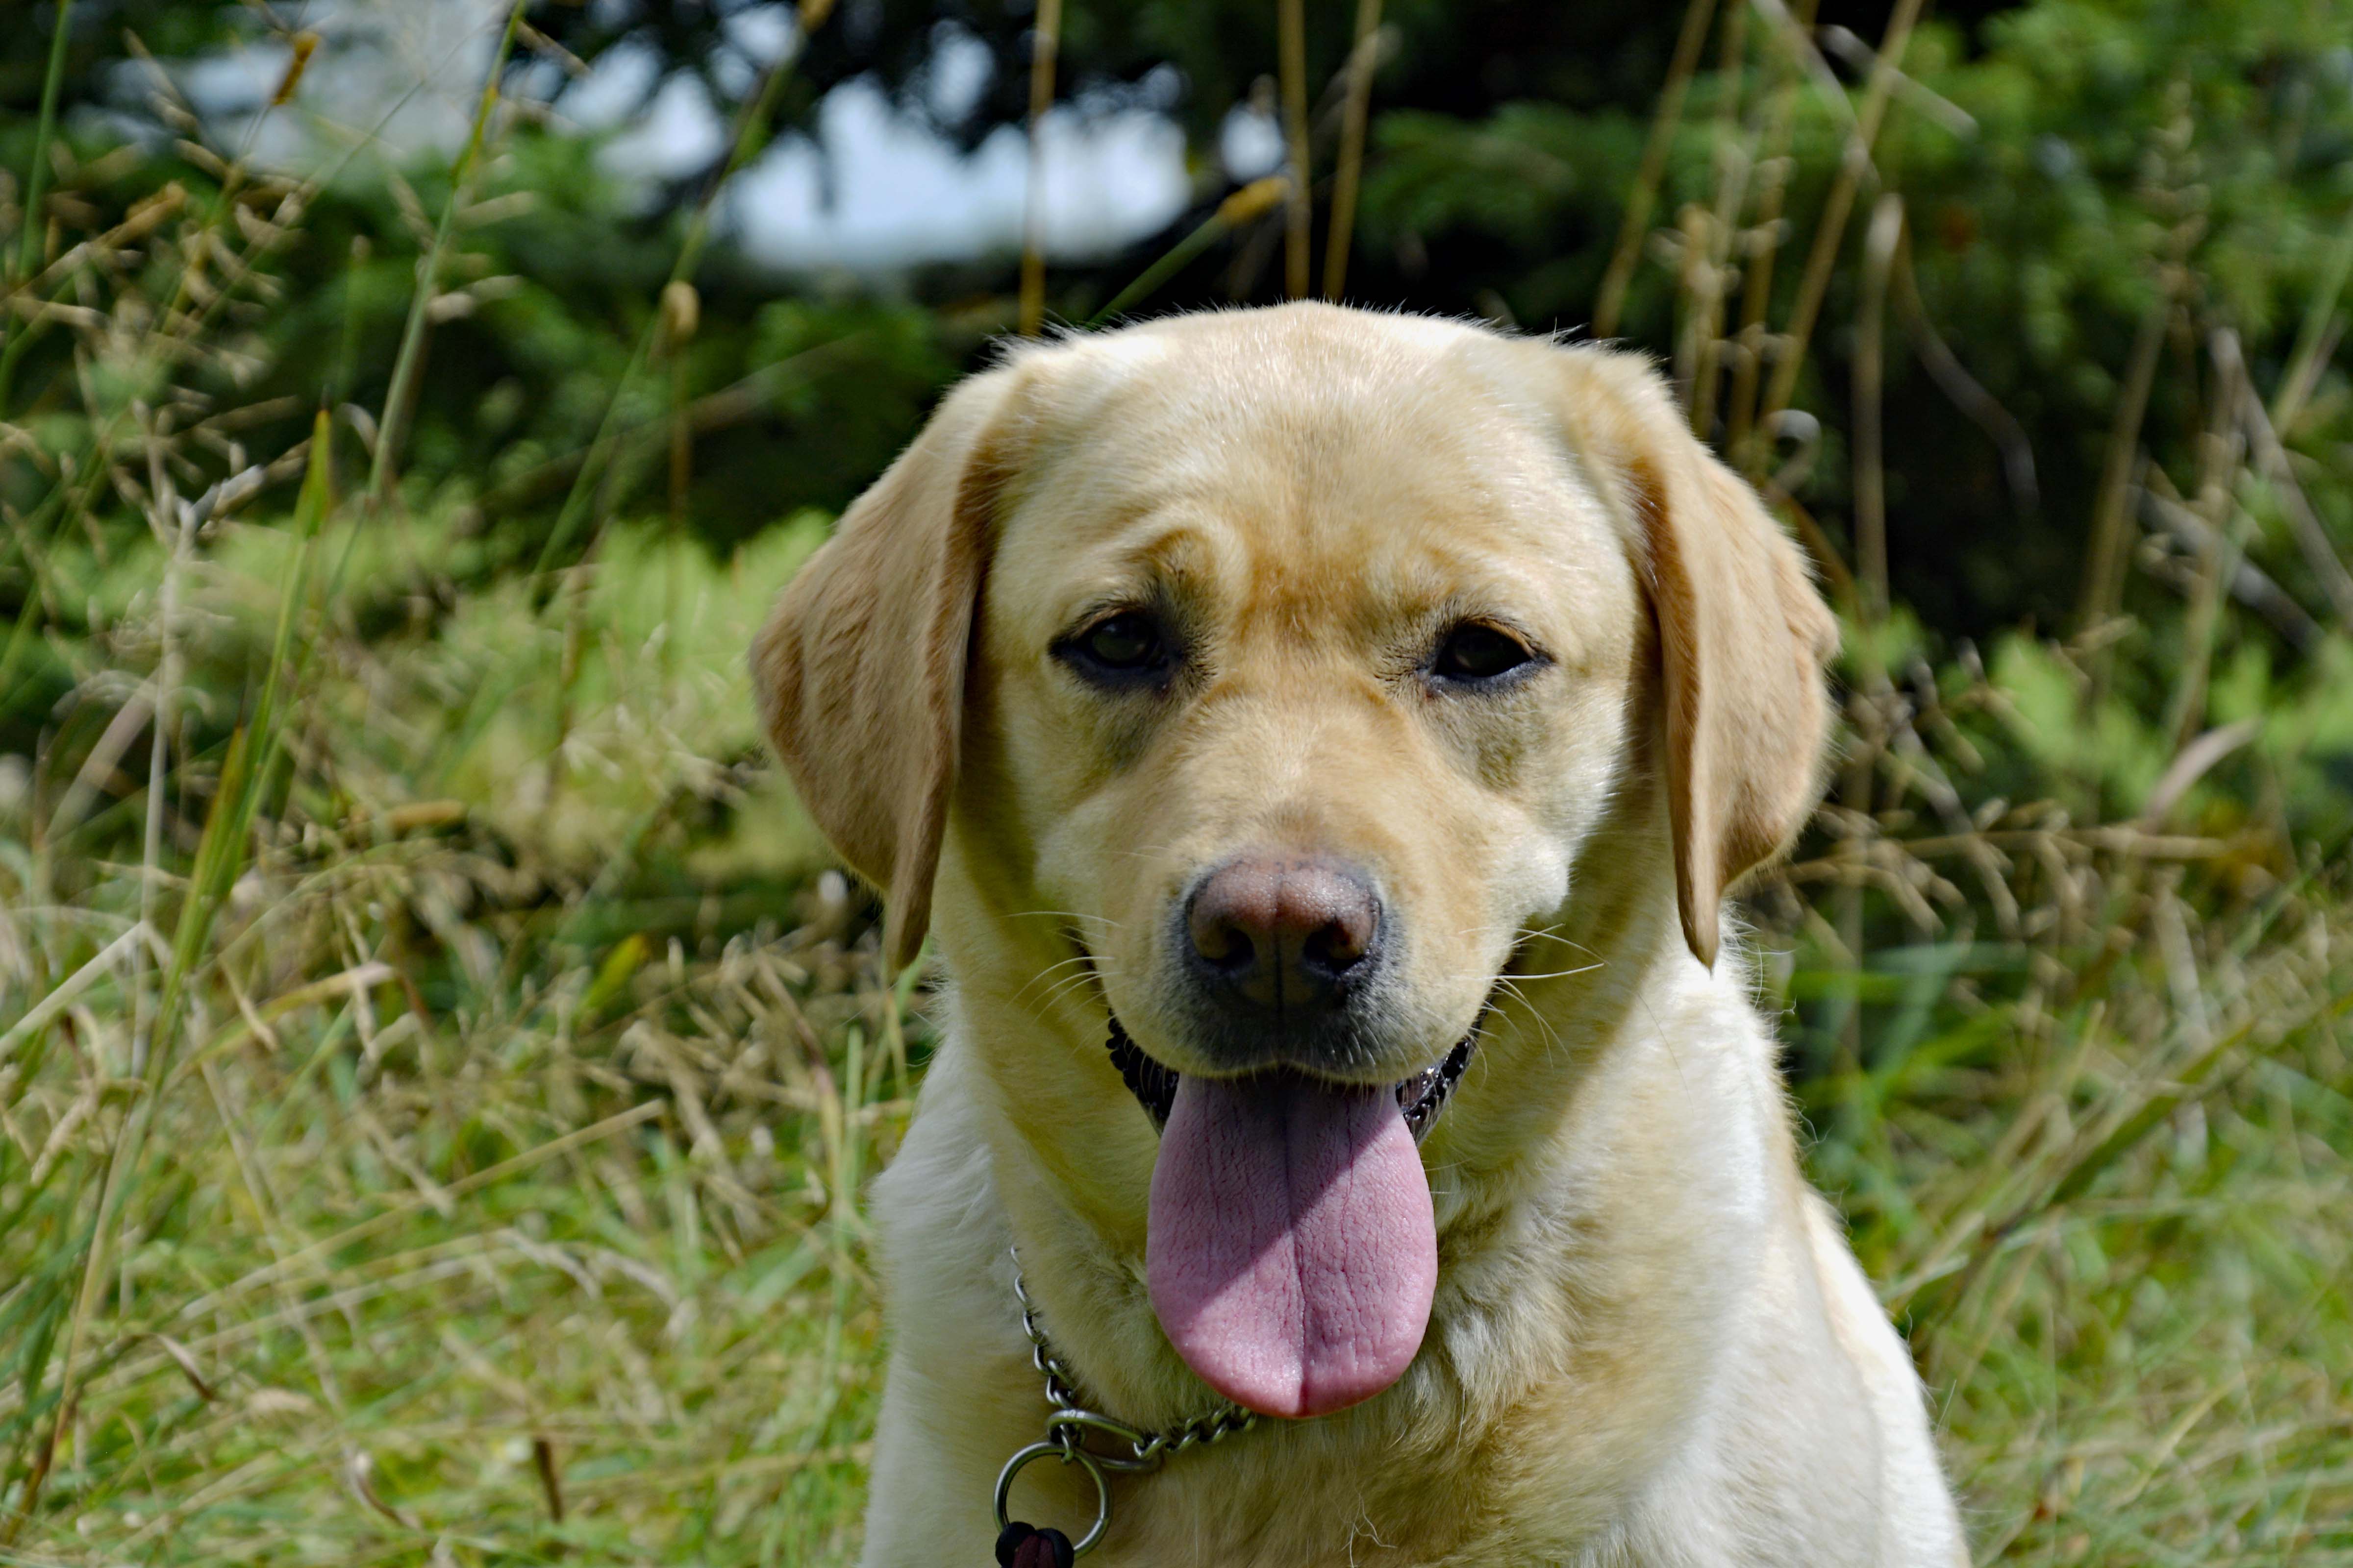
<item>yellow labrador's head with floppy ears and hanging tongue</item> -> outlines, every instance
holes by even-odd
[[[1725,889],[1809,806],[1833,642],[1640,360],[1289,306],[967,381],[755,670],[892,959],[936,875],[967,990],[1038,1037],[1125,1030],[1146,1117],[1101,1048],[1031,1060],[1024,1098],[1167,1121],[1162,1326],[1299,1415],[1412,1356],[1414,1138],[1508,971],[1574,966],[1527,945],[1598,849],[1654,846],[1715,961]]]

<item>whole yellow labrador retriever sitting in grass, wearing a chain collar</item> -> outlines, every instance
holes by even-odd
[[[1833,644],[1628,355],[1285,306],[958,388],[753,656],[951,980],[866,1561],[1965,1563],[1720,910]]]

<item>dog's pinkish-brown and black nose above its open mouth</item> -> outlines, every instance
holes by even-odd
[[[1231,1001],[1278,1018],[1337,1009],[1379,954],[1381,900],[1322,858],[1235,856],[1186,905],[1191,966]]]

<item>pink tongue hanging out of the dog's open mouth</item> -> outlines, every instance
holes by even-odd
[[[1186,1074],[1144,1262],[1176,1354],[1238,1406],[1325,1415],[1386,1389],[1438,1288],[1431,1185],[1395,1093]]]

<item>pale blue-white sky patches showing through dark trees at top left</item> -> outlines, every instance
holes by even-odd
[[[264,165],[315,167],[369,134],[393,155],[452,153],[464,143],[504,16],[504,0],[313,0],[301,26],[322,42],[294,103],[278,110],[268,99],[285,78],[282,45],[261,40],[172,61],[169,71],[219,143]],[[800,42],[786,5],[736,0],[722,31],[711,61],[722,94],[748,92]],[[1028,202],[1026,127],[1002,125],[969,153],[934,129],[974,113],[991,71],[986,45],[941,24],[911,99],[894,99],[871,78],[842,82],[819,106],[814,134],[779,136],[734,176],[720,197],[722,237],[793,273],[894,273],[1016,252]],[[725,150],[734,103],[713,103],[692,71],[666,75],[652,47],[616,45],[586,78],[551,59],[529,61],[520,75],[515,87],[548,101],[553,125],[598,136],[602,167],[645,200]],[[146,92],[139,82],[125,89]],[[1165,230],[1198,200],[1184,132],[1167,113],[1181,92],[1176,71],[1162,66],[1045,115],[1038,134],[1049,256],[1118,252]],[[1257,179],[1280,155],[1273,120],[1238,108],[1209,179]]]

